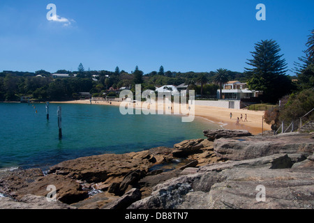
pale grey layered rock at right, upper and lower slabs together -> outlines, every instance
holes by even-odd
[[[128,208],[314,208],[313,148],[311,134],[216,139],[227,162],[182,171]]]

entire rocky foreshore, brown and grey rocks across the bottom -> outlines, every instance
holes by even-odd
[[[204,136],[173,148],[68,160],[45,175],[0,172],[0,208],[314,208],[314,134]],[[57,201],[47,201],[48,185]]]

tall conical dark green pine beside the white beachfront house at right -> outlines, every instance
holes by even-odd
[[[246,62],[251,68],[245,68],[248,74],[248,89],[263,91],[263,100],[277,102],[292,89],[292,82],[285,75],[287,63],[281,59],[283,54],[275,40],[261,40],[251,52],[253,59]]]

